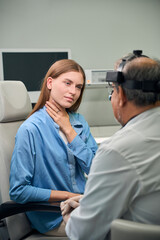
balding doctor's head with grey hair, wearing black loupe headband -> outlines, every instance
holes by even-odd
[[[159,60],[129,54],[116,62],[115,70],[110,75],[113,86],[111,103],[114,116],[121,125],[160,105]]]

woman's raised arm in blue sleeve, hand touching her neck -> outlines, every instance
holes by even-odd
[[[85,121],[82,115],[78,115],[79,119],[77,119],[77,121],[79,121],[79,123],[81,123],[83,126],[81,128],[81,133],[78,134],[77,132],[79,131],[79,128],[77,128],[77,132],[73,129],[68,113],[65,110],[61,109],[60,106],[47,102],[46,111],[60,126],[60,129],[68,139],[69,149],[76,157],[76,160],[81,166],[82,170],[88,174],[92,159],[95,156],[98,148],[96,141],[90,132],[88,123]]]

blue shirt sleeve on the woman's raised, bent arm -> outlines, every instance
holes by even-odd
[[[82,170],[88,174],[98,146],[90,132],[90,128],[86,120],[82,115],[78,114],[78,116],[79,121],[83,125],[83,130],[77,134],[71,143],[68,143],[68,147],[76,157],[76,160]]]

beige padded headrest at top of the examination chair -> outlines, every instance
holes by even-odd
[[[0,122],[25,120],[31,110],[27,89],[21,81],[0,81]]]

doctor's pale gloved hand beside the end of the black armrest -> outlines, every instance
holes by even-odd
[[[83,197],[83,195],[72,197],[64,202],[61,202],[61,213],[63,216],[63,220],[67,223],[68,219],[70,218],[71,212],[79,207],[79,200]]]

